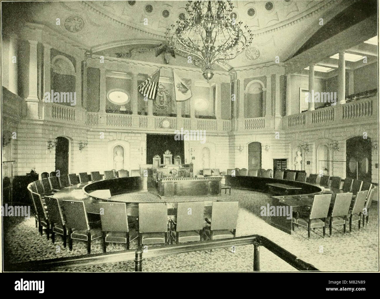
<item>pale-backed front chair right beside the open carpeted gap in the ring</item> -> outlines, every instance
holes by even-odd
[[[235,238],[238,209],[239,201],[214,201],[211,219],[205,218],[209,225],[205,234],[211,240]]]

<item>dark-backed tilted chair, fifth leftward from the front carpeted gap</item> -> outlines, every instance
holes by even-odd
[[[69,249],[73,250],[73,239],[87,242],[87,253],[91,253],[91,241],[101,238],[99,228],[90,228],[83,201],[62,200],[63,213],[69,235]],[[104,245],[103,245],[104,248]]]

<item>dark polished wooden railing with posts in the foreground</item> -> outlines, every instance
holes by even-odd
[[[233,239],[221,239],[221,240],[210,240],[210,241],[200,241],[200,242],[188,242],[186,244],[177,245],[167,245],[160,247],[149,248],[147,252],[143,253],[141,247],[136,250],[125,250],[115,253],[103,253],[95,255],[86,255],[78,257],[68,257],[68,258],[56,258],[51,260],[39,260],[25,263],[12,263],[5,265],[5,271],[21,271],[21,272],[38,272],[38,271],[59,271],[62,269],[79,267],[79,266],[90,266],[95,264],[109,264],[118,263],[123,261],[135,261],[135,271],[142,271],[143,258],[147,263],[149,263],[149,258],[175,255],[177,253],[192,252],[192,251],[203,251],[211,250],[216,248],[239,246],[239,245],[253,245],[253,271],[260,271],[260,250],[259,247],[263,246],[277,257],[281,258],[294,268],[299,271],[319,271],[312,264],[306,263],[300,260],[296,255],[290,253],[289,251],[283,249],[281,246],[277,245],[275,242],[260,236],[251,235],[237,237]]]

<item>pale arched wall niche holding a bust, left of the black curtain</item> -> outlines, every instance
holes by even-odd
[[[128,170],[130,172],[130,144],[125,140],[108,142],[107,169]]]

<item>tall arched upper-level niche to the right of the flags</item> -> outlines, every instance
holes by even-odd
[[[264,83],[260,80],[250,81],[244,90],[244,117],[262,117]]]

